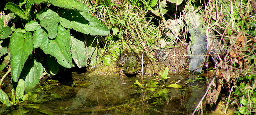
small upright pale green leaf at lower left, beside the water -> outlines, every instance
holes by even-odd
[[[25,90],[25,83],[24,83],[24,80],[23,80],[23,79],[20,79],[19,82],[18,82],[18,85],[17,85],[17,87],[16,87],[16,91],[15,91],[15,93],[16,93],[15,96],[16,96],[17,101],[18,101],[19,99],[22,99],[23,94],[24,94],[24,90]]]

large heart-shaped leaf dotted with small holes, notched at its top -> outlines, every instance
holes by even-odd
[[[70,32],[62,26],[58,26],[58,34],[54,40],[50,40],[46,32],[40,28],[34,32],[34,47],[41,48],[45,54],[56,57],[63,67],[72,67],[70,52]]]

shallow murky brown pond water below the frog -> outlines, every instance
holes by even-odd
[[[207,79],[200,79],[198,75],[170,75],[165,83],[158,81],[160,85],[154,87],[155,91],[134,84],[136,80],[141,83],[139,76],[120,79],[118,74],[98,75],[94,71],[72,72],[71,76],[46,81],[32,91],[32,95],[36,93],[38,99],[30,102],[34,105],[30,107],[29,104],[24,104],[6,113],[22,111],[32,115],[188,115],[194,111],[207,87]],[[157,77],[144,76],[142,85],[146,86],[146,83],[155,78]],[[182,88],[166,87],[177,81]],[[154,97],[155,92],[160,89],[168,92]]]

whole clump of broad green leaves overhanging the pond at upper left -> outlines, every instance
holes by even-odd
[[[36,8],[33,11],[32,6]],[[4,17],[0,20],[1,56],[10,57],[12,80],[24,79],[25,89],[36,86],[43,72],[55,75],[59,67],[73,67],[72,59],[78,67],[87,66],[88,59],[96,63],[96,48],[87,48],[84,39],[88,38],[72,35],[71,29],[90,36],[109,33],[88,12],[90,9],[77,0],[25,0],[19,5],[8,2],[5,7],[14,16],[1,13]],[[8,15],[18,20],[11,28],[5,23],[11,19]]]

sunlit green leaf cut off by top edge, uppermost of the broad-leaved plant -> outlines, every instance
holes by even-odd
[[[88,12],[88,9],[89,9],[82,2],[79,2],[77,0],[49,0],[49,3],[60,8],[65,8],[70,10],[76,9],[82,12]]]

